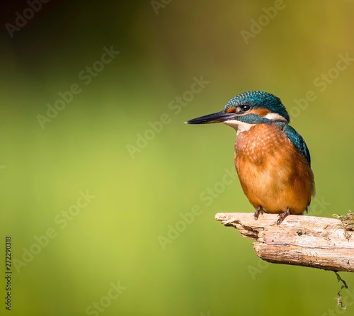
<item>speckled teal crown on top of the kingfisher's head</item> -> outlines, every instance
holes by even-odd
[[[277,113],[290,123],[290,116],[287,113],[285,106],[280,101],[278,96],[274,96],[265,91],[247,91],[243,94],[234,96],[226,106],[224,106],[223,111],[226,112],[228,108],[249,105],[252,108],[267,108],[271,113]]]

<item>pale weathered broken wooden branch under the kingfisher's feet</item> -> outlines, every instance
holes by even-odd
[[[217,213],[215,218],[256,239],[253,247],[265,261],[354,272],[354,236],[341,220],[289,215],[276,225],[276,214],[261,214],[255,220],[253,213]]]

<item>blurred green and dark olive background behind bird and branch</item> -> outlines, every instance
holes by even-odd
[[[353,209],[353,1],[52,0],[24,23],[29,3],[1,9],[11,315],[353,315],[334,273],[265,264],[215,221],[253,212],[224,176],[235,132],[183,124],[243,91],[280,96],[312,154],[309,215]]]

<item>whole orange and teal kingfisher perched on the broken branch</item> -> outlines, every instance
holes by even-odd
[[[292,128],[280,98],[264,91],[234,96],[221,112],[193,118],[187,124],[224,123],[236,130],[234,162],[244,194],[256,209],[302,215],[314,196],[314,174],[306,142]]]

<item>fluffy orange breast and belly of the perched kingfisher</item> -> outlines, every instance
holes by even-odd
[[[267,213],[302,214],[314,195],[314,174],[297,147],[275,124],[239,132],[235,166],[254,208]]]

